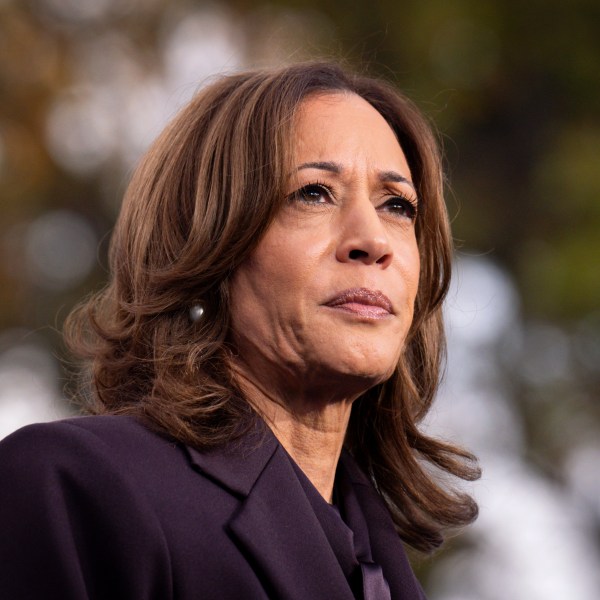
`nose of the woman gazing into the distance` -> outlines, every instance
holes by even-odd
[[[370,200],[355,202],[344,211],[336,258],[387,267],[393,250],[377,209]]]

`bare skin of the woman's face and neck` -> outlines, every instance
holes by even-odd
[[[306,99],[294,145],[288,199],[232,280],[234,370],[330,502],[352,402],[393,373],[412,321],[417,198],[393,131],[357,95]]]

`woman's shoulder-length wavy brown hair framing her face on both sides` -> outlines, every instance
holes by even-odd
[[[88,412],[138,415],[199,449],[247,431],[255,414],[230,369],[229,282],[285,198],[298,107],[327,92],[358,94],[386,119],[420,199],[414,320],[395,374],[356,400],[346,446],[402,539],[430,551],[477,515],[444,476],[472,480],[478,469],[471,454],[418,429],[444,358],[452,244],[435,136],[391,85],[308,63],[204,87],[135,171],[112,236],[110,281],[69,316],[66,339],[88,365]],[[194,322],[197,303],[205,314]]]

